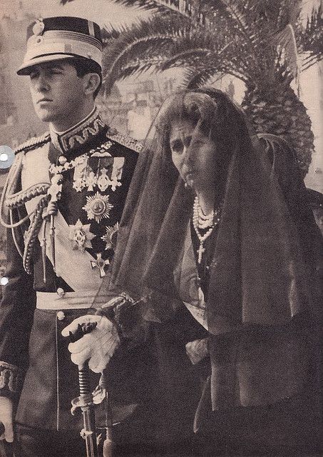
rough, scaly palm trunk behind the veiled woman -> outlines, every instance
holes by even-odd
[[[312,122],[302,101],[286,81],[249,86],[242,101],[257,133],[282,136],[294,149],[302,176],[307,174],[314,152]]]

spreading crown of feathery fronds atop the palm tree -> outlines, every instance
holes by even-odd
[[[184,66],[198,79],[227,71],[250,84],[273,84],[282,75],[290,81],[299,74],[299,54],[302,69],[323,58],[322,5],[304,27],[297,23],[302,0],[111,1],[157,13],[151,20],[106,32],[106,81]]]

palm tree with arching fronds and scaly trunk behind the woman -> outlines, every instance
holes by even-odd
[[[291,84],[323,57],[322,3],[304,24],[301,0],[112,1],[155,14],[106,35],[106,90],[147,69],[184,68],[190,88],[235,76],[245,83],[242,107],[255,130],[287,139],[307,173],[314,136]]]

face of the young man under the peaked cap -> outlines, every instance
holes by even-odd
[[[30,89],[41,121],[68,129],[79,120],[86,95],[83,78],[78,77],[73,65],[64,61],[35,65],[30,73]]]

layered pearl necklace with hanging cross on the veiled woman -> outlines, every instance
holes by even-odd
[[[196,235],[200,241],[200,247],[198,248],[198,263],[202,261],[202,255],[205,252],[205,248],[203,244],[205,240],[210,236],[212,230],[214,229],[217,224],[220,222],[220,209],[216,209],[215,211],[211,211],[210,214],[205,214],[200,207],[200,203],[198,201],[198,196],[195,197],[194,205],[193,205],[193,227],[195,230]],[[207,229],[210,227],[204,235],[200,234],[199,229]]]

